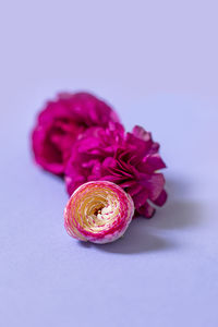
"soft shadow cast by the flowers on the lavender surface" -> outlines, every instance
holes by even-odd
[[[98,251],[136,254],[168,251],[180,246],[170,239],[170,233],[159,237],[160,229],[182,230],[196,228],[203,221],[203,208],[199,203],[168,202],[159,208],[152,219],[135,218],[131,222],[124,237],[113,243],[92,244],[81,242],[81,246],[95,247]],[[158,233],[158,235],[156,234]],[[167,238],[167,239],[166,239]]]

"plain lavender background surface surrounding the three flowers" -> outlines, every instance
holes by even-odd
[[[1,326],[218,325],[217,1],[1,1]],[[113,244],[63,228],[35,167],[44,100],[87,89],[161,143],[169,201]]]

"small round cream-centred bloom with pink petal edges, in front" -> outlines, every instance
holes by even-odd
[[[133,213],[133,201],[120,186],[107,181],[88,182],[70,197],[64,226],[77,240],[109,243],[123,235]]]

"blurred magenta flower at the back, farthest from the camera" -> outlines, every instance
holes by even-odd
[[[39,113],[32,134],[36,162],[55,174],[63,174],[71,148],[90,126],[118,122],[116,112],[88,93],[60,94]]]

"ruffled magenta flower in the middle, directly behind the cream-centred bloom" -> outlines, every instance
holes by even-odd
[[[87,130],[72,148],[65,169],[65,183],[71,195],[87,181],[107,180],[119,184],[134,202],[135,214],[150,218],[154,205],[167,199],[165,178],[158,171],[166,168],[159,144],[150,133],[135,126],[125,133],[120,123]]]

